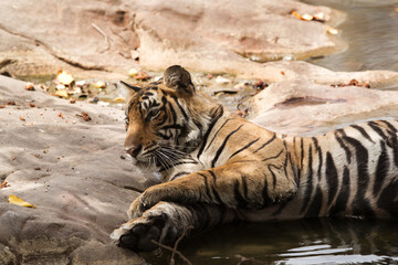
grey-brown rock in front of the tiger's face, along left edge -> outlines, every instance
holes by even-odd
[[[0,182],[9,184],[0,198],[0,263],[142,264],[108,237],[154,181],[121,159],[123,112],[23,86],[0,76],[0,105],[15,103],[0,108]],[[35,209],[8,203],[10,194]]]

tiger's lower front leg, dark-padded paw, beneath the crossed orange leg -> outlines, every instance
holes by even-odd
[[[159,202],[147,210],[143,216],[133,219],[115,230],[111,239],[118,246],[136,252],[148,252],[157,248],[153,240],[172,244],[185,231],[191,234],[231,222],[234,218],[234,211],[218,205],[184,206],[172,202]]]

